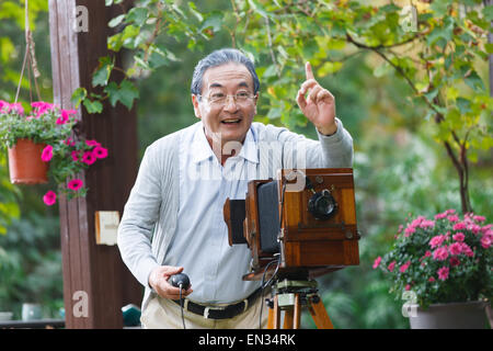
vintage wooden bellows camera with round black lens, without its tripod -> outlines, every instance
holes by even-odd
[[[229,244],[252,252],[243,279],[260,280],[279,256],[279,272],[311,276],[359,264],[353,169],[283,169],[277,179],[251,181],[244,201],[225,203]]]

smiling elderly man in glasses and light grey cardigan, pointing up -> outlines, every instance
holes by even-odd
[[[249,181],[275,178],[280,168],[353,162],[334,97],[309,63],[306,76],[296,100],[319,140],[253,122],[260,82],[241,52],[216,50],[195,67],[192,103],[200,121],[146,149],[118,228],[122,258],[146,287],[144,327],[182,328],[180,288],[168,281],[182,271],[193,284],[183,292],[186,328],[259,327],[261,284],[242,281],[251,252],[228,246],[226,199],[244,199]]]

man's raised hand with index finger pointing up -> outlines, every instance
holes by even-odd
[[[305,116],[313,123],[323,135],[337,131],[335,123],[335,99],[332,93],[322,88],[313,77],[310,63],[305,65],[307,80],[301,84],[296,102]],[[308,92],[308,97],[305,95]]]

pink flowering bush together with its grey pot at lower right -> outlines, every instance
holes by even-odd
[[[408,301],[411,328],[483,328],[493,293],[493,229],[483,216],[447,210],[399,227],[391,250],[374,269]],[[403,309],[404,312],[404,309]]]

